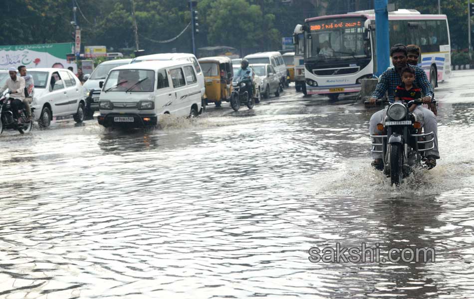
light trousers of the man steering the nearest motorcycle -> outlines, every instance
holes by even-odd
[[[387,115],[387,108],[388,106],[380,111],[377,111],[370,118],[370,122],[369,122],[370,135],[382,135],[383,132],[377,129],[377,124],[382,124],[384,122],[384,119]],[[415,110],[413,111],[413,114],[416,115],[417,121],[420,122],[422,127],[425,129],[425,133],[433,132],[434,148],[427,150],[425,152],[426,156],[428,157],[432,155],[436,159],[439,159],[440,152],[438,150],[438,123],[436,121],[435,114],[431,110],[423,107],[422,105],[418,105],[417,108],[415,108]],[[374,142],[374,143],[380,143],[380,142]],[[427,144],[427,145],[430,146],[431,144]],[[372,157],[374,159],[381,159],[382,153],[372,152]]]

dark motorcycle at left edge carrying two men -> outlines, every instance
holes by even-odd
[[[33,121],[27,121],[23,103],[21,103],[21,110],[18,110],[20,115],[18,121],[13,114],[11,100],[13,99],[10,99],[9,94],[0,98],[0,134],[4,129],[18,130],[20,134],[28,133],[33,128]],[[31,113],[33,112],[31,111]]]

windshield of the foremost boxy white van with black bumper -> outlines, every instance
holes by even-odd
[[[115,70],[105,81],[103,91],[153,91],[155,72],[151,70]]]

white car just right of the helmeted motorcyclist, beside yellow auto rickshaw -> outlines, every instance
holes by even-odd
[[[280,95],[280,77],[274,68],[265,63],[250,64],[249,66],[253,69],[255,74],[255,89],[260,91],[262,97],[268,99],[270,94],[274,94],[275,97],[278,97]]]

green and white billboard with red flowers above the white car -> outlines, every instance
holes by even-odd
[[[66,55],[73,53],[74,43],[33,44],[0,46],[0,69],[72,66],[77,71],[76,64],[67,61]]]

